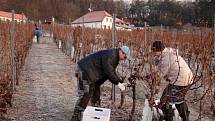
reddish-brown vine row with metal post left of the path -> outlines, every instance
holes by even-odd
[[[12,11],[14,13],[14,11]],[[18,85],[19,75],[32,46],[33,23],[0,21],[0,119],[12,106],[12,94]]]

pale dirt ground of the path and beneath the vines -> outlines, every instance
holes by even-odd
[[[13,121],[69,121],[77,100],[75,64],[57,48],[49,37],[43,37],[41,43],[34,43],[20,75],[20,85],[13,95],[13,107],[8,109],[8,119]],[[138,84],[139,85],[139,84]],[[111,84],[102,86],[102,107],[111,108],[111,121],[127,121],[132,107],[132,98],[125,97],[122,109],[119,109],[120,91],[116,87],[116,102],[110,96]],[[144,88],[137,88],[135,121],[141,121],[144,104]],[[191,111],[191,121],[197,118],[197,112]],[[203,119],[202,121],[212,121]]]

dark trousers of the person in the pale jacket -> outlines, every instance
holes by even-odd
[[[161,96],[161,103],[172,102],[175,104],[176,109],[179,112],[180,117],[183,121],[189,121],[189,109],[184,101],[187,93],[188,86],[176,86],[169,84]],[[166,105],[162,106],[163,110],[166,110]],[[165,114],[165,113],[164,113]]]

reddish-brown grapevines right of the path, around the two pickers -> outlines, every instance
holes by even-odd
[[[191,110],[197,112],[193,114],[192,120],[214,117],[215,53],[213,48],[215,37],[213,29],[193,27],[186,32],[175,29],[160,31],[150,28],[116,31],[115,41],[112,41],[111,30],[70,28],[58,25],[54,26],[53,29],[55,42],[62,44],[62,50],[71,56],[74,62],[104,48],[120,47],[121,45],[127,45],[131,48],[133,61],[121,63],[121,66],[118,67],[118,73],[123,79],[127,81],[130,79],[130,83],[134,84],[131,89],[133,93],[130,90],[132,101],[128,106],[132,109],[132,111],[130,110],[132,116],[135,114],[135,104],[132,105],[132,102],[137,99],[143,101],[146,93],[153,97],[159,97],[159,94],[156,93],[157,89],[161,88],[161,92],[165,87],[165,84],[161,82],[162,79],[155,74],[156,69],[150,54],[151,43],[155,40],[161,40],[167,47],[178,49],[179,54],[186,60],[194,73],[194,83],[186,98]],[[149,74],[150,76],[145,78]],[[111,90],[111,88],[109,89]],[[119,101],[123,102],[121,99]],[[108,103],[108,105],[110,104]],[[127,110],[127,112],[129,111]],[[139,115],[141,115],[140,112],[139,110]],[[128,116],[127,120],[131,120],[132,116]],[[122,118],[125,115],[118,114],[116,117]],[[135,117],[133,118],[135,119]]]

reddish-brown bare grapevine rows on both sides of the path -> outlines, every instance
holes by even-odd
[[[112,41],[111,30],[73,28],[59,24],[40,27],[43,31],[51,33],[56,46],[59,46],[74,63],[88,54],[113,46],[127,45],[131,48],[133,60],[122,62],[117,68],[119,75],[132,85],[130,89],[125,94],[116,90],[116,103],[112,105],[111,84],[107,83],[102,88],[102,106],[113,109],[111,120],[140,120],[145,94],[158,98],[165,87],[162,79],[155,73],[156,67],[150,51],[151,43],[155,40],[161,40],[168,47],[177,48],[194,73],[194,83],[186,97],[191,111],[195,112],[192,120],[214,117],[213,29],[191,28],[186,32],[175,29],[160,31],[152,28],[116,31],[116,39]],[[10,23],[0,22],[0,28],[0,112],[6,113],[7,104],[11,104],[14,84],[19,84],[19,74],[32,45],[33,25],[16,23],[16,29],[12,29]],[[14,33],[12,30],[15,30]],[[14,42],[11,41],[13,38]],[[118,109],[119,106],[121,109]]]

